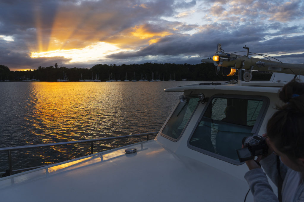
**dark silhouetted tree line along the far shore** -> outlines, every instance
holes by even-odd
[[[190,64],[174,64],[174,63],[144,63],[132,65],[107,65],[98,64],[92,68],[66,68],[58,67],[57,63],[54,66],[41,67],[27,71],[10,71],[8,67],[0,65],[0,81],[22,81],[26,79],[39,79],[40,81],[57,81],[63,79],[66,74],[69,81],[78,81],[79,79],[95,79],[98,77],[101,81],[109,79],[121,80],[135,79],[157,79],[168,81],[175,79],[181,81],[228,81],[236,79],[236,76],[223,76],[221,72],[218,75],[215,73],[215,66],[212,63],[201,63],[196,65]],[[110,77],[110,78],[109,78]],[[253,80],[269,80],[270,73],[253,72]]]

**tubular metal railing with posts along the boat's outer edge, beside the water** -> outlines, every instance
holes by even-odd
[[[42,166],[35,166],[35,167],[28,167],[28,168],[22,168],[18,170],[12,169],[12,151],[15,150],[22,150],[22,149],[33,149],[38,147],[53,147],[53,146],[61,146],[61,145],[67,145],[67,144],[79,144],[79,143],[91,143],[91,154],[93,154],[93,143],[98,141],[106,141],[106,140],[115,140],[115,139],[125,139],[130,137],[142,137],[147,136],[147,140],[149,140],[149,135],[156,135],[158,132],[151,132],[151,133],[142,133],[142,134],[134,134],[134,135],[124,135],[124,136],[116,136],[116,137],[104,137],[104,138],[98,138],[98,139],[88,139],[88,140],[78,140],[78,141],[68,141],[68,142],[56,142],[56,143],[48,143],[48,144],[33,144],[33,145],[25,145],[25,146],[17,146],[17,147],[4,147],[0,148],[0,152],[7,151],[8,153],[8,160],[9,160],[9,175],[12,175],[13,172],[20,172],[20,171],[27,171],[39,167],[44,167],[47,165]],[[4,174],[6,172],[0,172],[0,174]]]

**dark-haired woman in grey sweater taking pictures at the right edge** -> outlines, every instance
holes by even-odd
[[[263,135],[267,138],[268,155],[259,156],[256,161],[275,185],[283,180],[283,202],[304,201],[304,83],[289,82],[279,92],[279,98],[284,104],[277,107],[268,121],[267,134]],[[276,155],[280,156],[278,163]],[[250,171],[245,174],[254,201],[279,201],[256,161],[246,161]]]

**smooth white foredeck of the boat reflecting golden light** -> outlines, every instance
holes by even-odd
[[[176,155],[154,140],[132,145],[135,154],[125,154],[129,147],[4,177],[0,201],[244,200],[247,183],[225,170]]]

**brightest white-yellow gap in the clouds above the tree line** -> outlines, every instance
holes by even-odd
[[[90,45],[85,48],[55,50],[46,52],[31,52],[31,58],[64,57],[71,58],[71,60],[69,61],[69,63],[71,63],[101,59],[105,55],[118,53],[120,51],[123,51],[123,49],[120,49],[115,45],[105,42],[98,42],[94,45]]]

